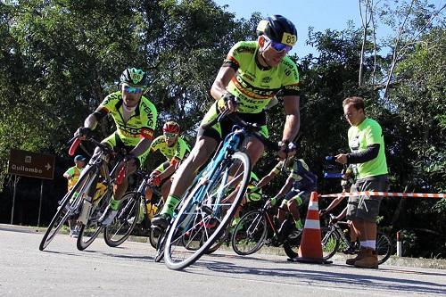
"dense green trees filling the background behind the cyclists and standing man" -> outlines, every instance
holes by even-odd
[[[407,1],[402,8],[390,4],[392,1],[384,2],[388,10],[376,13],[398,28],[409,6]],[[446,192],[444,23],[428,22],[434,7],[423,1],[416,1],[410,13],[409,29],[401,37],[405,50],[385,101],[373,83],[384,80],[391,57],[378,55],[375,68],[374,46],[369,42],[362,65],[363,84],[358,87],[362,29],[351,24],[340,31],[310,29],[307,43],[318,54],[300,60],[292,57],[301,74],[298,156],[319,177],[324,156],[349,150],[343,99],[362,95],[368,116],[384,130],[392,190],[401,191],[410,184],[415,192]],[[12,148],[66,157],[66,141],[105,95],[117,90],[120,72],[126,67],[147,70],[151,83],[145,95],[160,112],[159,126],[165,120],[177,120],[186,140],[193,144],[203,112],[213,102],[210,88],[219,66],[236,41],[255,38],[260,18],[254,13],[249,20],[236,20],[234,13],[211,0],[1,4],[0,180]],[[423,34],[418,34],[421,29]],[[381,47],[392,45],[390,41]],[[279,103],[268,111],[274,140],[281,139],[282,106]],[[95,133],[102,138],[112,130],[111,120],[103,120]],[[154,156],[151,165],[160,161],[160,156]],[[261,177],[275,163],[276,154],[268,152],[254,170]],[[284,182],[285,177],[278,178],[266,193],[276,194]],[[318,186],[322,193],[340,191],[337,181],[319,180]],[[382,224],[393,231],[417,227],[446,234],[444,199],[387,200],[381,215]],[[418,233],[407,236],[412,254],[429,250],[417,241],[422,238]],[[442,251],[441,246],[432,249],[435,254]]]

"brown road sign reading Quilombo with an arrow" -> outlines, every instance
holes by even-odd
[[[54,155],[12,149],[9,155],[8,173],[53,179]]]

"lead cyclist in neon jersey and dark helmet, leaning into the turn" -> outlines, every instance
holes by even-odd
[[[286,146],[299,132],[299,72],[296,64],[286,56],[297,41],[293,23],[281,15],[273,15],[260,21],[256,41],[235,44],[211,87],[215,103],[206,113],[202,124],[215,119],[219,111],[236,112],[243,120],[258,123],[264,136],[268,136],[265,107],[278,91],[284,92],[285,127],[282,136],[281,158],[287,155]],[[169,197],[161,214],[152,219],[155,226],[167,227],[173,210],[186,188],[190,186],[196,171],[215,151],[219,142],[230,132],[233,122],[222,120],[211,128],[200,128],[189,157],[179,167],[173,180]],[[252,137],[247,153],[254,165],[263,153],[264,145]]]

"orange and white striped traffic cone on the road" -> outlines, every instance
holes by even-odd
[[[303,227],[303,234],[301,236],[301,246],[299,247],[298,257],[294,258],[293,261],[319,264],[328,263],[322,255],[317,192],[311,192],[307,219],[305,219],[305,226]]]

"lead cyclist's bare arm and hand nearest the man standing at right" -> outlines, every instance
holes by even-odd
[[[298,95],[284,96],[285,107],[285,126],[282,134],[282,142],[292,142],[294,137],[299,133],[301,128],[301,115],[299,111],[300,97]],[[284,147],[285,149],[285,147]],[[279,157],[285,159],[286,153],[284,150],[278,152]]]

